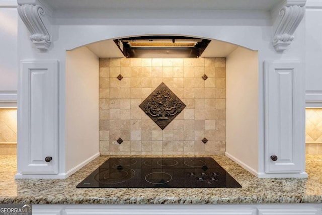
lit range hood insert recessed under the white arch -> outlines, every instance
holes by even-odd
[[[143,36],[114,40],[125,57],[199,57],[210,40],[182,36]]]

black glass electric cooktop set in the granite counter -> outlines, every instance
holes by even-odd
[[[110,158],[77,188],[241,187],[212,158]]]

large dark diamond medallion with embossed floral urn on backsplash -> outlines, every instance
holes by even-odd
[[[163,130],[186,105],[161,83],[139,107]]]

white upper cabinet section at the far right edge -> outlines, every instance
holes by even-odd
[[[322,1],[306,3],[306,107],[322,107]]]

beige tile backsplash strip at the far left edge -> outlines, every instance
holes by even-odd
[[[0,108],[0,155],[17,154],[17,109]]]

